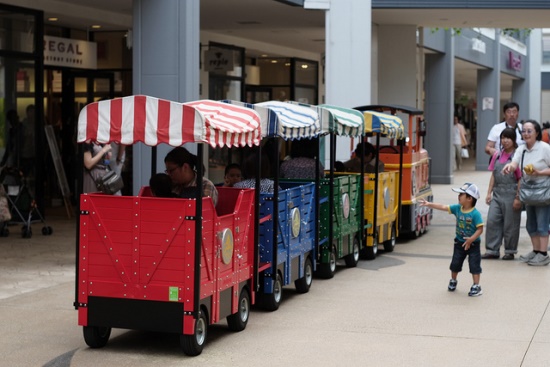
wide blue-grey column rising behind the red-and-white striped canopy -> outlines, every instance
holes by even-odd
[[[133,88],[171,101],[199,98],[199,0],[134,0]],[[157,148],[157,172],[172,148]],[[133,147],[134,194],[149,183],[151,148]]]

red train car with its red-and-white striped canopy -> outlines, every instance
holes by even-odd
[[[258,145],[260,120],[221,102],[131,96],[86,106],[78,141]],[[156,198],[148,188],[83,194],[75,307],[86,343],[104,346],[111,328],[173,332],[198,355],[209,324],[227,318],[243,330],[256,290],[255,196],[221,189],[214,207],[209,197]]]

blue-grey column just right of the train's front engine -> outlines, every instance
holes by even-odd
[[[454,182],[454,38],[451,31],[445,31],[445,53],[427,54],[425,63],[425,146],[431,157],[432,183],[450,184]]]

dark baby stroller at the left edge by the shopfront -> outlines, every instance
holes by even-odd
[[[53,229],[47,226],[44,217],[40,214],[36,201],[32,197],[29,188],[26,185],[25,177],[23,173],[15,167],[4,167],[0,174],[0,183],[2,184],[1,192],[4,192],[4,197],[7,199],[7,205],[9,209],[8,215],[11,219],[0,222],[0,237],[7,237],[9,235],[9,224],[21,223],[21,237],[31,238],[33,222],[33,215],[36,215],[44,227],[42,228],[42,234],[45,236],[51,235]],[[0,194],[1,194],[0,192]],[[2,203],[0,196],[0,205]],[[1,209],[1,208],[0,208]],[[2,220],[2,218],[0,218]]]

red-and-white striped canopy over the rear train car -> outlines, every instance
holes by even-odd
[[[129,96],[90,103],[78,117],[79,143],[177,147],[195,142],[231,147],[259,145],[260,139],[256,111],[211,100],[179,103]]]

